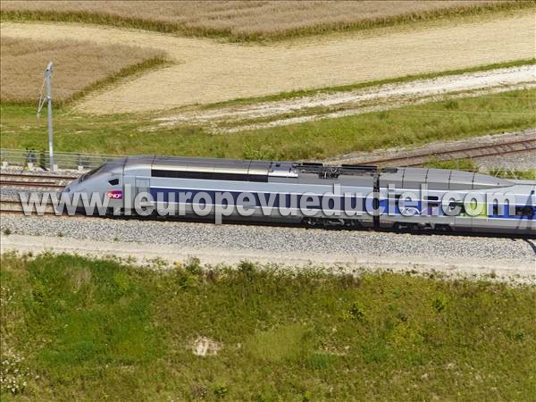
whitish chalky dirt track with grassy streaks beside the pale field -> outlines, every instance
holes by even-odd
[[[492,95],[522,88],[536,88],[536,65],[477,71],[431,80],[414,80],[208,110],[192,107],[155,118],[157,124],[154,129],[180,124],[203,124],[214,133],[231,133],[388,110],[401,105],[445,98]],[[263,122],[255,121],[257,119],[263,119]]]

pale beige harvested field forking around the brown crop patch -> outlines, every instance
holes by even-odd
[[[428,29],[360,33],[270,46],[222,44],[155,32],[4,22],[2,35],[74,38],[166,50],[177,64],[90,96],[92,113],[139,112],[498,63],[536,54],[534,13]],[[60,69],[61,66],[56,66]]]

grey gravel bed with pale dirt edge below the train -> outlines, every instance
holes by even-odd
[[[2,250],[51,249],[89,255],[133,255],[139,260],[201,258],[205,264],[339,266],[494,274],[536,283],[536,241],[462,236],[415,236],[369,231],[211,223],[117,221],[82,217],[3,215]],[[5,230],[11,230],[5,236]]]

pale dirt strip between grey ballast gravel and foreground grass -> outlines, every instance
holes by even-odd
[[[183,245],[158,245],[105,242],[80,239],[56,239],[45,236],[2,235],[0,252],[21,253],[76,253],[77,255],[134,258],[139,264],[151,265],[151,260],[159,259],[168,264],[197,257],[202,264],[239,264],[249,260],[260,264],[281,264],[290,270],[323,267],[330,272],[361,272],[363,270],[388,270],[394,272],[441,272],[448,278],[490,279],[535,283],[533,261],[519,261],[505,258],[501,261],[484,258],[430,257],[422,255],[340,255],[338,253],[297,253],[270,252],[264,250],[232,250],[216,247],[184,247]]]

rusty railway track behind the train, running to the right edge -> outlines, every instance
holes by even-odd
[[[373,158],[359,161],[359,163],[389,166],[420,166],[431,160],[448,161],[465,158],[478,159],[487,156],[521,154],[529,151],[536,151],[536,138],[524,138],[482,146],[459,147],[443,151],[399,155],[389,158]]]

